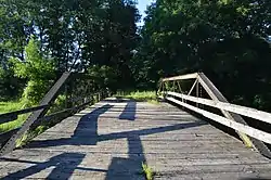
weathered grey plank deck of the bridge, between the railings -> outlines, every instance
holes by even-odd
[[[1,158],[0,179],[271,178],[271,160],[166,103],[102,101]]]

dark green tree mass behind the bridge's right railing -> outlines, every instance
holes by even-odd
[[[131,64],[138,87],[204,72],[230,101],[270,111],[270,12],[268,1],[157,0]]]

